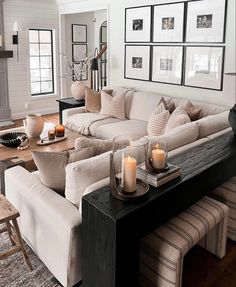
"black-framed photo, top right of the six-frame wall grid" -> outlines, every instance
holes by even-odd
[[[186,42],[224,43],[227,0],[188,2]]]

